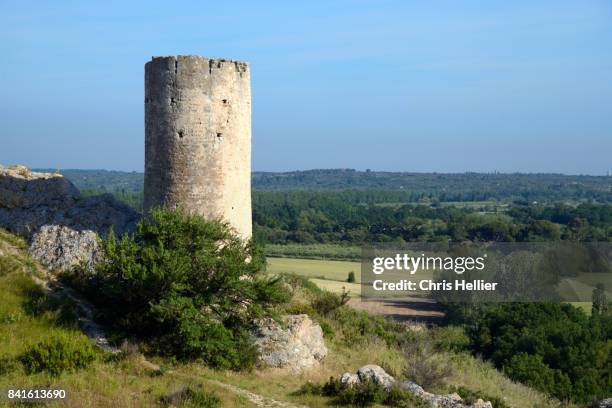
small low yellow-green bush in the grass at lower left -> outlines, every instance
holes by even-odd
[[[59,375],[86,368],[96,357],[94,346],[81,336],[56,335],[31,345],[20,356],[28,373],[40,371]]]

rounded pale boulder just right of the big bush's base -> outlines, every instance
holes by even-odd
[[[305,314],[286,316],[284,321],[287,328],[273,319],[262,319],[253,330],[261,362],[294,372],[318,365],[327,355],[321,326]]]

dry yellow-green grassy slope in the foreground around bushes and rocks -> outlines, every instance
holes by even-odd
[[[48,272],[29,259],[24,248],[25,243],[20,239],[3,231],[0,233],[0,291],[3,293],[0,300],[0,389],[35,386],[66,389],[69,398],[65,406],[69,407],[164,406],[164,396],[185,386],[195,390],[196,395],[216,395],[219,406],[278,403],[280,405],[276,406],[324,407],[329,406],[328,398],[297,395],[296,391],[306,382],[320,383],[368,363],[380,364],[398,377],[404,375],[404,352],[383,339],[390,333],[401,335],[406,329],[351,311],[346,306],[336,314],[322,315],[313,309],[317,304],[313,300],[323,292],[300,279],[296,279],[299,283],[295,285],[294,299],[285,311],[309,312],[324,325],[330,354],[318,369],[299,375],[278,369],[215,371],[196,362],[177,363],[148,356],[148,361],[152,362],[149,363],[132,346],[125,347],[121,357],[98,350],[87,368],[59,376],[44,371],[28,373],[20,361],[32,344],[57,337],[67,337],[80,344],[86,338],[78,328],[74,305],[49,296],[35,283],[33,277]],[[279,264],[274,268],[277,272],[284,269]],[[380,332],[381,327],[388,327],[389,332]],[[508,380],[490,364],[441,347],[440,344],[453,342],[449,340],[452,332],[440,329],[410,336],[414,344],[438,344],[431,350],[431,358],[442,362],[449,375],[431,386],[434,391],[445,392],[450,387],[465,386],[498,396],[510,406],[558,406],[544,395]],[[368,353],[363,353],[364,349]],[[161,369],[156,369],[155,365]],[[187,402],[182,406],[204,406],[193,404]]]

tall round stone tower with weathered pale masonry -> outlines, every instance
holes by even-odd
[[[145,211],[181,208],[251,237],[251,86],[244,62],[145,65]]]

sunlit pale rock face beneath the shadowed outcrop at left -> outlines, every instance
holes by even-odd
[[[99,256],[98,237],[90,230],[45,225],[34,234],[29,252],[52,269],[66,271],[80,264],[91,268]]]

